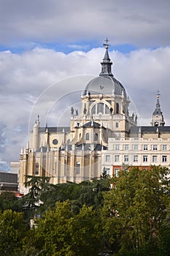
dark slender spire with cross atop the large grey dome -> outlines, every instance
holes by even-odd
[[[100,76],[102,75],[109,75],[109,76],[113,76],[112,75],[112,61],[109,59],[109,39],[108,37],[104,40],[106,43],[104,43],[103,45],[105,46],[106,52],[104,54],[104,59],[103,61],[101,61],[101,73]]]

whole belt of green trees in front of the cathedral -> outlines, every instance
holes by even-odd
[[[168,177],[155,166],[81,184],[30,176],[23,198],[0,195],[0,255],[170,255]]]

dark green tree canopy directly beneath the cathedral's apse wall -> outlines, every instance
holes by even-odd
[[[72,211],[75,214],[80,212],[80,208],[93,206],[93,210],[101,208],[103,204],[102,192],[109,190],[109,178],[101,178],[93,181],[82,181],[80,184],[72,182],[66,184],[51,185],[48,190],[41,192],[40,200],[43,204],[39,207],[41,213],[47,208],[55,208],[55,203],[58,201],[69,200]]]

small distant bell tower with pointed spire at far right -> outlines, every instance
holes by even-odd
[[[161,105],[159,102],[159,98],[161,94],[159,93],[159,91],[157,91],[156,95],[157,95],[157,102],[156,102],[155,110],[152,113],[151,124],[154,127],[158,127],[158,126],[163,127],[165,124],[165,121],[163,120],[163,113],[161,112]]]

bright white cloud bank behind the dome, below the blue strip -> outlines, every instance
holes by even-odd
[[[139,112],[140,123],[150,124],[155,109],[156,91],[159,89],[161,110],[166,124],[170,124],[170,47],[134,50],[128,54],[112,51],[109,55],[114,62],[112,72],[115,78],[123,83],[132,98]],[[37,111],[34,108],[34,104],[39,102],[39,99],[45,100],[46,103],[42,106],[49,108],[47,109],[49,126],[57,124],[59,119],[59,124],[66,125],[66,118],[63,116],[69,116],[70,106],[80,102],[81,90],[84,86],[81,84],[80,91],[74,95],[72,91],[79,87],[77,87],[78,83],[70,83],[74,81],[72,77],[98,75],[103,56],[104,48],[94,48],[87,53],[75,51],[69,54],[43,48],[34,48],[21,54],[1,52],[0,158],[7,161],[18,160],[20,147],[25,145],[28,140],[28,129],[31,129],[29,118],[31,116],[31,122],[34,122],[36,115],[39,114],[39,108]],[[70,78],[69,83],[67,80],[62,82],[65,78]],[[54,94],[48,86],[58,81],[61,82],[55,88]],[[43,94],[45,89],[48,94],[46,92]],[[67,92],[69,95],[66,95]],[[41,98],[41,95],[44,98]],[[54,104],[55,95],[56,104]],[[58,100],[59,95],[60,98],[63,95],[63,101]],[[69,120],[67,124],[69,125]]]

